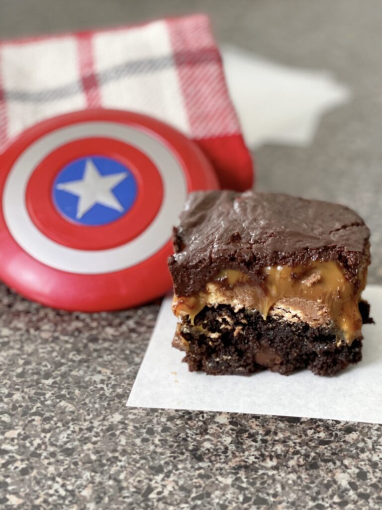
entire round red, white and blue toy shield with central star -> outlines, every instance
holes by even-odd
[[[195,143],[116,110],[43,121],[1,162],[0,278],[65,310],[128,308],[165,293],[187,194],[219,187]]]

